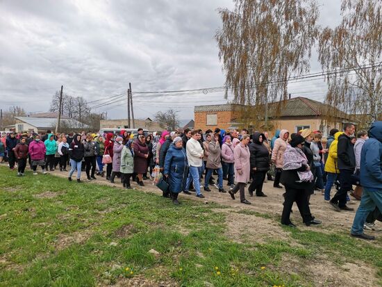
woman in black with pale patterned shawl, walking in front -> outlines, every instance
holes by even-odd
[[[281,183],[285,186],[285,202],[281,215],[281,224],[296,227],[290,221],[290,211],[296,202],[306,226],[320,224],[310,213],[308,197],[313,186],[313,174],[310,172],[308,160],[302,151],[304,137],[296,135],[287,146],[283,157],[283,173]]]

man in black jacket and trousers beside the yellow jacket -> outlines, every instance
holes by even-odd
[[[350,136],[354,135],[354,124],[344,124],[344,133],[338,138],[338,169],[340,170],[340,190],[335,193],[330,204],[336,211],[354,211],[354,208],[346,205],[347,192],[351,190],[354,169],[356,168],[356,156]]]

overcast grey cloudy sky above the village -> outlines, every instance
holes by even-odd
[[[340,22],[340,0],[319,0],[319,24]],[[49,110],[64,85],[88,101],[132,90],[184,90],[224,85],[215,31],[217,8],[230,0],[0,0],[0,107]],[[320,72],[313,52],[311,71]],[[323,99],[326,84],[290,85],[294,97]],[[160,99],[134,95],[136,118],[173,106],[182,120],[194,105],[225,103],[222,93]],[[90,104],[92,106],[93,104]],[[126,100],[99,108],[126,118]]]

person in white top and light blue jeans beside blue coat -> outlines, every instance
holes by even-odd
[[[185,150],[187,151],[188,160],[188,178],[185,184],[185,193],[188,192],[190,188],[191,181],[194,182],[194,189],[197,193],[197,197],[204,198],[204,195],[200,191],[200,181],[199,181],[199,169],[203,164],[204,152],[198,141],[201,134],[199,131],[192,131],[191,138],[187,141]]]

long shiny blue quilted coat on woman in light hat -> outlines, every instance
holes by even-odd
[[[183,147],[170,145],[165,157],[164,174],[168,174],[169,190],[182,192],[185,190],[185,182],[188,176],[187,154]]]

